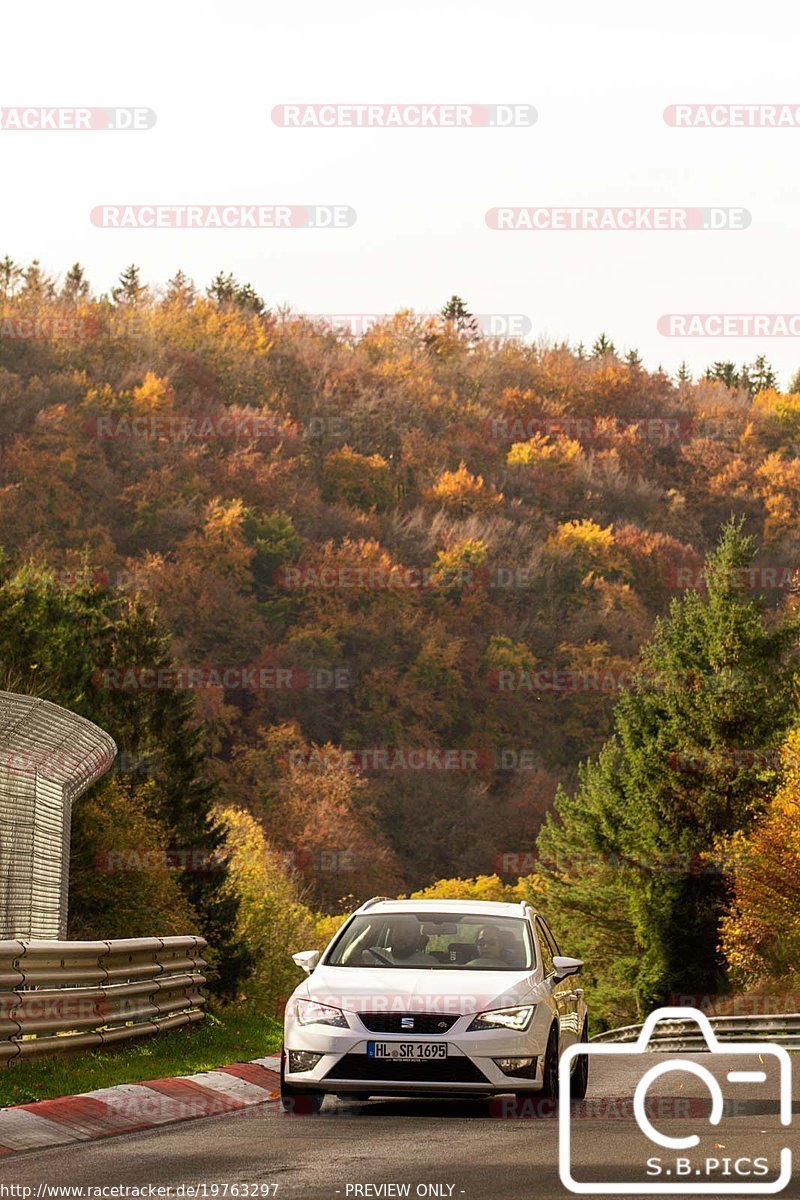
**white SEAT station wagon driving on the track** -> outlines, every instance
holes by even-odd
[[[587,1040],[583,962],[560,954],[530,905],[389,900],[354,912],[285,1010],[281,1099],[317,1111],[325,1096],[554,1099],[559,1055]],[[589,1060],[573,1060],[571,1093]]]

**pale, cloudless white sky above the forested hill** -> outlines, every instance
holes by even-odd
[[[766,0],[41,0],[2,13],[0,107],[136,106],[142,132],[0,131],[0,254],[97,290],[140,265],[219,270],[312,313],[518,313],[606,331],[648,366],[752,360],[800,338],[668,338],[672,312],[800,313],[796,128],[673,128],[668,104],[800,109],[800,8]],[[282,128],[282,103],[527,103],[534,126]],[[351,228],[102,229],[101,204],[344,204]],[[744,208],[736,232],[505,232],[491,208]]]

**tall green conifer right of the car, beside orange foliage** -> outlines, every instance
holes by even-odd
[[[565,923],[589,913],[584,937],[597,944],[609,920],[627,929],[630,984],[644,1009],[724,986],[726,878],[704,856],[763,809],[775,782],[763,755],[794,713],[798,620],[768,623],[747,584],[753,557],[752,539],[730,522],[706,562],[708,592],[673,601],[657,623],[640,678],[616,706],[612,743],[540,835],[545,863],[557,850],[579,863],[588,846],[615,856],[601,862],[619,882],[600,872],[613,907],[591,874],[555,887],[545,870],[545,886]]]

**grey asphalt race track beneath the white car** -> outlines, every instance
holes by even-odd
[[[704,1066],[710,1066],[711,1058],[709,1055],[680,1057]],[[728,1082],[724,1078],[728,1070],[747,1066],[735,1055],[714,1056],[715,1075],[722,1081],[727,1102],[723,1120],[716,1128],[706,1121],[708,1090],[702,1080],[685,1072],[680,1075],[670,1072],[649,1088],[654,1126],[669,1135],[703,1133],[700,1147],[662,1150],[644,1138],[626,1115],[625,1102],[630,1114],[630,1098],[643,1070],[666,1058],[666,1055],[654,1054],[644,1060],[594,1061],[589,1103],[576,1110],[572,1122],[576,1177],[638,1184],[648,1180],[649,1157],[660,1156],[661,1170],[666,1172],[668,1164],[673,1164],[669,1168],[673,1170],[678,1158],[690,1159],[690,1156],[691,1169],[696,1170],[696,1164],[700,1163],[705,1171],[705,1158],[712,1156],[721,1165],[711,1169],[708,1177],[732,1183],[736,1182],[735,1162],[742,1170],[753,1170],[747,1160],[760,1156],[770,1168],[777,1168],[781,1147],[792,1146],[798,1162],[793,1180],[781,1195],[800,1196],[800,1104],[794,1102],[793,1126],[789,1129],[781,1127],[777,1074],[770,1072],[765,1084]],[[799,1056],[793,1056],[793,1096],[796,1097]],[[247,1183],[249,1196],[259,1198],[266,1194],[263,1186],[277,1184],[277,1193],[270,1187],[269,1195],[277,1194],[278,1200],[390,1200],[398,1195],[452,1200],[564,1200],[570,1193],[559,1177],[558,1118],[554,1115],[530,1116],[530,1112],[522,1118],[507,1115],[504,1118],[504,1111],[507,1106],[504,1108],[503,1100],[488,1104],[438,1099],[363,1103],[329,1099],[320,1115],[294,1117],[278,1115],[275,1106],[260,1105],[241,1115],[186,1121],[8,1158],[0,1162],[0,1198],[14,1195],[8,1190],[11,1184],[84,1188],[160,1184],[170,1188],[170,1195],[194,1195],[204,1200],[201,1188],[191,1193],[187,1186],[205,1184],[209,1200],[215,1200],[215,1195],[225,1200],[231,1196],[233,1184]],[[726,1159],[729,1176],[721,1174],[726,1170]],[[679,1169],[688,1170],[686,1166]],[[666,1180],[666,1174],[661,1178]],[[758,1182],[753,1176],[740,1178]],[[213,1184],[218,1184],[216,1193]],[[227,1193],[224,1184],[228,1184]],[[386,1184],[399,1186],[399,1189]],[[684,1190],[682,1177],[680,1187],[680,1194],[688,1194]],[[40,1198],[55,1194],[38,1193]],[[633,1194],[644,1195],[638,1190]],[[83,1195],[89,1198],[91,1193]],[[241,1188],[239,1196],[245,1195]],[[723,1193],[715,1183],[706,1195],[721,1196]]]

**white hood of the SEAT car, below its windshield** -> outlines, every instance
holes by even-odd
[[[295,996],[349,1013],[481,1013],[529,1000],[531,971],[319,966]]]

